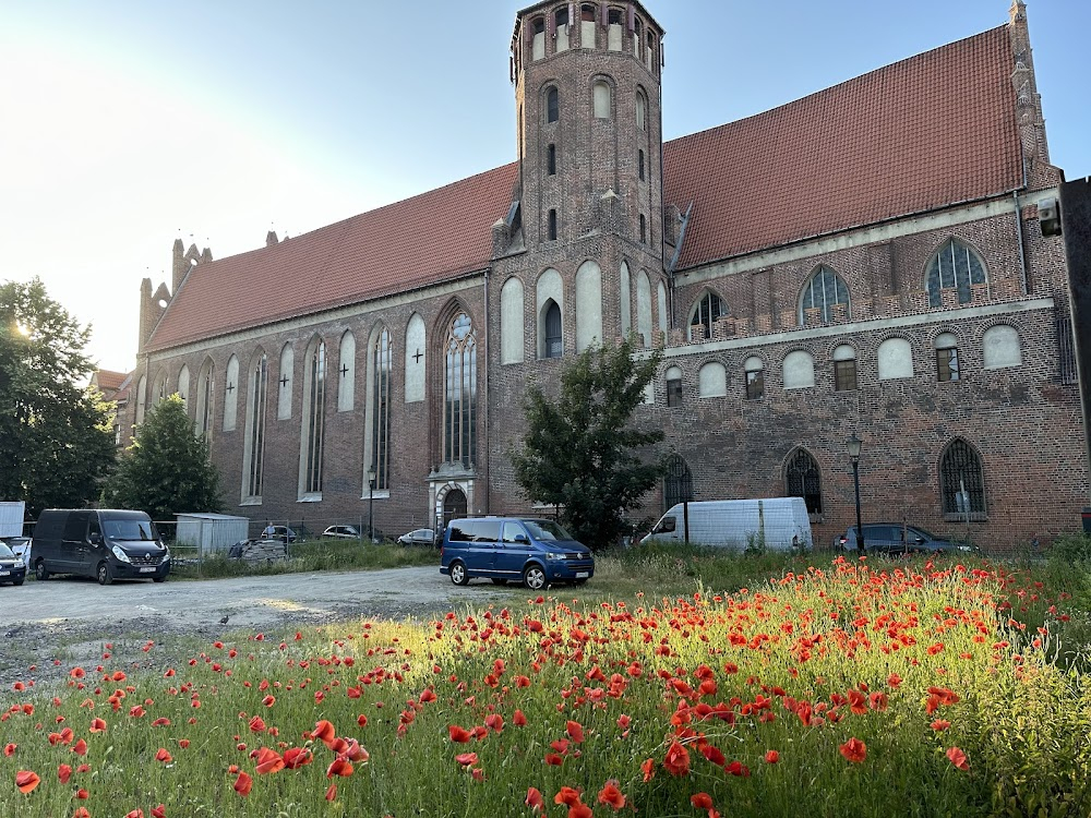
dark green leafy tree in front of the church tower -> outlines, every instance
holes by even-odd
[[[564,525],[591,548],[627,533],[625,513],[662,472],[658,460],[640,454],[663,438],[662,430],[632,425],[661,354],[637,360],[634,351],[627,339],[585,350],[563,370],[556,399],[531,386],[524,400],[527,432],[512,453],[524,491],[561,506]]]

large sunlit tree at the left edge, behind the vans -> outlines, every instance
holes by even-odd
[[[94,500],[113,466],[113,410],[84,385],[89,336],[39,279],[0,284],[0,500],[34,516]]]

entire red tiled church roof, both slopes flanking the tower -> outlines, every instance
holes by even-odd
[[[664,145],[666,200],[694,203],[679,268],[1005,193],[1022,182],[1006,26]],[[484,268],[517,164],[197,264],[149,349]]]

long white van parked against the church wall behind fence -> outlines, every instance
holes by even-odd
[[[679,503],[642,542],[692,542],[744,551],[812,549],[811,518],[803,497],[709,500]]]

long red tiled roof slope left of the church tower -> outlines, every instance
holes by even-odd
[[[512,163],[273,246],[190,270],[148,345],[166,349],[483,269]]]

